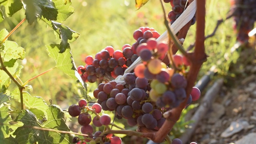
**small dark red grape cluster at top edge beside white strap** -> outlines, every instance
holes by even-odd
[[[172,11],[168,13],[168,18],[171,24],[182,14],[184,9],[188,7],[188,0],[164,0],[165,3],[170,3],[172,6]],[[191,25],[195,24],[196,17],[194,16],[191,21]]]

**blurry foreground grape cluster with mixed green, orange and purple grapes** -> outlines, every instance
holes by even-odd
[[[150,50],[156,50],[157,54],[151,54]],[[140,57],[144,62],[134,68],[135,75],[138,78],[151,80],[149,97],[156,102],[159,108],[175,108],[186,99],[187,81],[184,72],[175,73],[173,68],[168,68],[164,62],[158,59],[158,57],[164,56],[167,50],[168,45],[165,42],[148,40],[140,52]],[[182,55],[174,55],[173,59],[175,66],[178,68],[185,69],[190,65],[186,57]],[[199,97],[200,90],[194,87],[188,104]]]

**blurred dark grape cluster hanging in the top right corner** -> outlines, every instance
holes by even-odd
[[[231,0],[234,14],[234,30],[237,30],[237,40],[247,42],[248,33],[254,27],[256,21],[256,1],[255,0]]]

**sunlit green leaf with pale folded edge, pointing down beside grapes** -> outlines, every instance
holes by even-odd
[[[49,56],[53,58],[56,62],[56,68],[62,70],[64,73],[66,73],[74,80],[78,79],[78,82],[82,84],[84,90],[87,92],[86,83],[82,81],[80,75],[76,70],[76,65],[74,63],[70,47],[68,46],[66,51],[63,53],[58,52],[60,47],[59,44],[50,44],[46,47],[47,51],[49,52]]]

